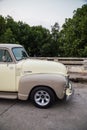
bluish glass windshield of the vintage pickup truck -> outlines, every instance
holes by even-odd
[[[23,47],[12,48],[12,51],[17,61],[28,58],[28,54]]]

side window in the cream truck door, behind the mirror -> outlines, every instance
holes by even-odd
[[[12,58],[7,50],[0,49],[0,62],[12,62]]]

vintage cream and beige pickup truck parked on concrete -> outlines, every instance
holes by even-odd
[[[0,98],[30,99],[48,108],[55,99],[72,95],[66,67],[59,62],[32,60],[23,46],[0,44]]]

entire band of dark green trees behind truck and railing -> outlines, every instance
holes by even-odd
[[[30,56],[86,57],[87,5],[75,10],[61,30],[57,22],[49,31],[0,15],[0,43],[21,44]]]

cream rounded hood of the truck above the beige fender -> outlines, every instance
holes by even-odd
[[[44,61],[44,60],[23,60],[22,62],[23,74],[33,73],[56,73],[67,75],[66,67],[59,62]]]

